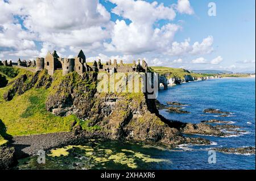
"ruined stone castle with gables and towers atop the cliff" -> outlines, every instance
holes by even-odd
[[[1,62],[0,65],[13,66],[12,62],[7,62],[7,60]],[[106,64],[102,64],[101,60],[94,61],[93,64],[86,64],[86,57],[84,52],[80,50],[79,54],[75,58],[61,58],[54,50],[53,53],[48,52],[45,58],[38,57],[36,60],[23,60],[20,58],[17,63],[14,63],[15,66],[19,68],[35,68],[35,71],[41,71],[43,69],[48,70],[49,75],[53,75],[56,70],[63,70],[63,75],[76,71],[78,74],[82,75],[88,71],[96,71],[106,73],[132,73],[132,72],[147,72],[147,63],[146,61],[138,60],[133,61],[133,64],[123,64],[123,61],[120,60],[119,64],[117,60],[109,60]]]

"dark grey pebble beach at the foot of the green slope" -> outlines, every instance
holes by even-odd
[[[90,139],[109,140],[104,132],[59,132],[35,134],[28,136],[14,136],[9,144],[0,146],[0,169],[10,169],[18,159],[36,155],[39,150],[48,152],[51,149],[68,145],[81,145]]]

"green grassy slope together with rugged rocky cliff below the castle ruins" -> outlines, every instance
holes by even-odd
[[[102,132],[115,140],[154,141],[171,146],[210,143],[184,137],[183,123],[164,119],[156,109],[155,100],[147,99],[143,93],[99,93],[96,86],[95,72],[81,77],[76,72],[62,76],[61,71],[56,71],[51,76],[46,70],[24,71],[0,91],[5,98],[0,104],[6,112],[1,119],[11,135],[67,129],[77,132],[80,127],[85,131]],[[10,106],[18,107],[15,115],[6,111]],[[13,122],[15,119],[18,121]]]

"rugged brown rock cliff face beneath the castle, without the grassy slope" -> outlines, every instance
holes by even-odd
[[[198,142],[185,138],[174,127],[164,123],[155,100],[143,93],[103,94],[96,91],[96,73],[81,79],[71,73],[55,83],[46,108],[56,116],[75,114],[81,124],[97,127],[112,139],[162,142],[168,145]]]

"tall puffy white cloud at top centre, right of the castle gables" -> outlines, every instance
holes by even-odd
[[[167,23],[161,28],[153,28],[160,19],[173,20],[176,16],[172,7],[165,7],[157,2],[133,0],[110,0],[117,5],[112,12],[125,19],[117,20],[112,32],[112,42],[104,44],[106,50],[126,54],[139,54],[157,51],[170,45],[179,30],[176,24]]]

